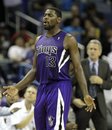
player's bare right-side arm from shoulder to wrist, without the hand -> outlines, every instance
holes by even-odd
[[[80,55],[79,55],[78,45],[77,45],[77,42],[73,36],[71,36],[71,35],[66,36],[65,49],[69,50],[70,57],[71,57],[72,64],[73,64],[73,69],[75,72],[75,77],[77,78],[78,83],[81,87],[83,96],[85,96],[88,94],[87,83],[86,83],[83,69],[82,69],[82,66],[80,63]]]

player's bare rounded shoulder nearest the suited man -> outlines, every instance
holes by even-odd
[[[77,46],[77,41],[75,37],[69,33],[66,34],[64,39],[64,48],[68,50],[71,47]]]

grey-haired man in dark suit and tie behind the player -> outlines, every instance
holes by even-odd
[[[102,46],[98,40],[90,40],[87,45],[88,58],[82,60],[82,68],[88,84],[89,94],[95,99],[96,110],[91,113],[85,111],[85,107],[74,108],[78,130],[85,130],[92,119],[96,130],[107,130],[106,103],[104,89],[111,89],[111,71],[109,64],[99,59]],[[94,73],[93,73],[94,72]],[[82,99],[80,88],[76,85],[75,98]]]

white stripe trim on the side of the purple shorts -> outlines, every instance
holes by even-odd
[[[62,105],[62,108],[63,108],[63,113],[61,113],[61,105]],[[60,89],[58,89],[56,124],[55,124],[54,130],[59,130],[60,123],[61,123],[61,126],[62,126],[61,130],[65,130],[65,127],[64,127],[64,107],[65,107],[64,106],[64,100],[63,100],[63,97],[62,97]],[[60,118],[61,118],[61,121],[60,121]]]

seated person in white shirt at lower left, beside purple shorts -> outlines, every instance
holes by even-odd
[[[12,104],[10,109],[15,107],[20,108],[16,113],[7,117],[8,130],[34,130],[34,103],[36,100],[37,88],[30,85],[24,94],[24,99],[21,102]]]

